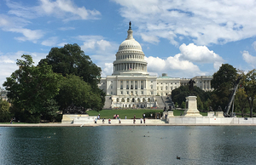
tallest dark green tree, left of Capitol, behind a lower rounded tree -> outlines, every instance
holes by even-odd
[[[87,108],[102,110],[106,94],[97,86],[101,81],[102,69],[94,64],[88,55],[84,54],[78,44],[66,44],[62,48],[51,48],[46,59],[41,60],[39,65],[44,64],[44,62],[52,65],[53,71],[61,73],[63,77],[72,74],[81,77],[93,91],[90,97],[96,96],[95,100],[99,101],[98,103],[92,101],[91,107],[87,106]],[[98,96],[101,100],[98,100]]]

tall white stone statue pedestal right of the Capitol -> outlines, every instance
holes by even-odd
[[[186,110],[183,113],[184,117],[202,117],[197,110],[196,96],[186,97]]]

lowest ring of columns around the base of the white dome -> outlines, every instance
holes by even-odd
[[[139,63],[121,63],[113,65],[113,71],[147,71],[147,65]]]

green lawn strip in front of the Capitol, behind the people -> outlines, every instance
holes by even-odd
[[[156,109],[117,109],[117,110],[102,110],[102,111],[86,111],[90,116],[98,116],[101,114],[101,118],[113,118],[114,114],[119,114],[120,118],[133,118],[136,115],[137,118],[143,117],[143,113],[152,112],[158,113],[163,112],[163,110],[156,110]],[[183,110],[174,110],[174,116],[180,116]],[[207,116],[207,112],[200,112],[202,116]]]

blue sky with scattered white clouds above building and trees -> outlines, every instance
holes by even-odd
[[[111,75],[129,21],[151,76],[212,76],[222,64],[251,71],[255,11],[254,0],[0,0],[0,87],[22,54],[37,65],[67,43]]]

